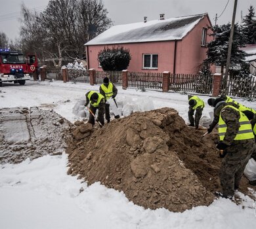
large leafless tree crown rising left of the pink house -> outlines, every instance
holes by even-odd
[[[110,27],[107,14],[99,0],[50,0],[39,15],[23,6],[22,43],[61,66],[66,57],[83,58],[83,44]]]

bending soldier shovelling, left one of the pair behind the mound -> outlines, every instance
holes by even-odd
[[[90,109],[95,115],[96,110],[98,109],[98,118],[97,120],[104,125],[104,96],[102,94],[95,92],[95,91],[89,91],[87,94],[85,94],[86,102],[85,107],[90,103]],[[90,113],[89,115],[89,121],[88,123],[91,123],[92,125],[95,124],[95,117]]]

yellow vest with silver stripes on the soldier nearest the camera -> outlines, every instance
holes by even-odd
[[[251,123],[249,122],[247,116],[245,116],[244,113],[242,113],[242,111],[239,111],[236,107],[227,105],[223,107],[223,109],[225,109],[226,107],[230,107],[240,113],[240,118],[239,118],[240,128],[234,140],[237,141],[237,140],[253,139],[254,138],[253,130],[251,129]],[[219,116],[218,132],[219,132],[219,139],[223,141],[226,133],[226,123],[224,122],[221,115]]]

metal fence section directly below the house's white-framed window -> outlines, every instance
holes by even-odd
[[[129,87],[144,88],[162,90],[163,88],[163,73],[140,73],[129,72],[128,73]]]

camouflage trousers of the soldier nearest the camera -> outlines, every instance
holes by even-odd
[[[244,168],[254,147],[254,139],[247,139],[233,141],[232,145],[226,148],[226,156],[223,158],[219,173],[224,197],[234,196],[234,190],[239,187]]]

